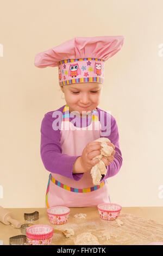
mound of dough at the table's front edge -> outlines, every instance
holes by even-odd
[[[90,232],[85,232],[74,239],[75,245],[100,245],[98,239],[95,235],[92,235]]]

